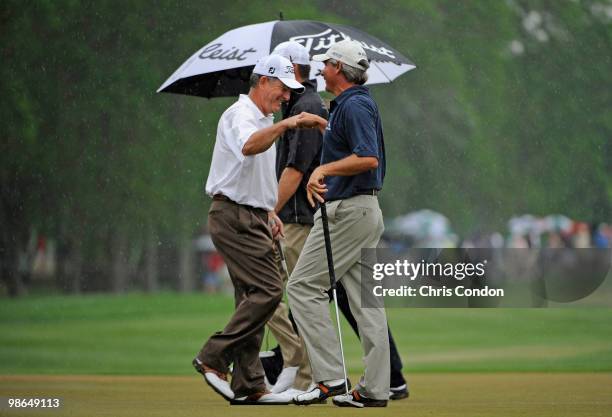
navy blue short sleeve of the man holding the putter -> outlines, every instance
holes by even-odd
[[[350,103],[345,117],[345,132],[352,152],[360,157],[373,156],[380,159],[376,119],[378,112],[371,104],[363,100]]]

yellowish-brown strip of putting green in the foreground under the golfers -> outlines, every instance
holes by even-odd
[[[353,375],[356,377],[357,375]],[[0,416],[213,417],[410,416],[604,417],[612,410],[612,374],[417,374],[412,395],[387,408],[326,405],[230,406],[193,376],[0,376],[0,396],[60,397],[59,410],[0,410]]]

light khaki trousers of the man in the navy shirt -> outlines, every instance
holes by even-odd
[[[357,389],[374,399],[389,398],[389,336],[384,308],[361,307],[361,249],[375,248],[384,226],[375,196],[327,203],[336,278],[346,290],[359,328],[365,374]],[[306,343],[314,380],[342,379],[340,343],[329,313],[329,272],[321,211],[287,284],[287,295]],[[334,320],[335,321],[335,320]]]

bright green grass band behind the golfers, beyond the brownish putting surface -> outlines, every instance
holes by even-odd
[[[232,309],[231,297],[202,294],[3,299],[0,374],[190,375]],[[610,309],[389,309],[388,317],[408,375],[612,371]],[[348,367],[360,372],[358,340],[348,326],[343,334]]]

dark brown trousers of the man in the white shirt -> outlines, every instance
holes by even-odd
[[[264,326],[283,295],[278,253],[263,209],[213,200],[208,227],[215,247],[227,264],[234,285],[236,309],[222,331],[204,344],[198,358],[228,372],[236,397],[266,390],[259,349]]]

